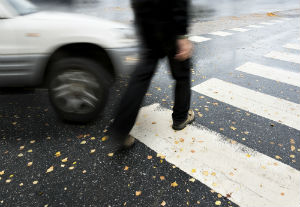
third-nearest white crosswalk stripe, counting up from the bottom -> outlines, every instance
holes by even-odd
[[[300,87],[300,73],[247,62],[236,70]]]

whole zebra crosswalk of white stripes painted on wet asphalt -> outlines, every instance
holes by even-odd
[[[239,29],[236,29],[238,31]],[[240,32],[243,32],[240,30]],[[226,33],[214,35],[226,36]],[[193,36],[195,42],[209,38]],[[298,50],[299,44],[282,48]],[[271,51],[266,59],[300,64],[300,54]],[[300,71],[245,62],[236,71],[300,87]],[[192,87],[198,94],[300,131],[300,103],[277,98],[218,78]],[[300,171],[201,125],[171,129],[172,111],[156,103],[143,107],[131,134],[166,160],[229,200],[245,207],[296,207]],[[298,149],[299,150],[299,149]]]

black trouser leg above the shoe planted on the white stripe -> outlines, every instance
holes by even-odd
[[[172,118],[180,123],[187,118],[191,102],[190,59],[178,61],[169,55],[169,63],[173,78],[176,80],[175,103]]]

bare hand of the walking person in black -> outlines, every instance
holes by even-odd
[[[184,61],[192,56],[193,45],[187,38],[178,39],[177,47],[178,51],[175,55],[176,60]]]

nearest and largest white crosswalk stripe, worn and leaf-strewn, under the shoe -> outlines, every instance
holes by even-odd
[[[299,171],[202,126],[176,132],[171,114],[159,104],[143,107],[131,135],[239,206],[298,206]]]

